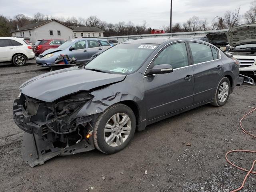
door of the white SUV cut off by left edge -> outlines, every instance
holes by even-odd
[[[0,62],[11,61],[15,48],[8,39],[0,39]]]

